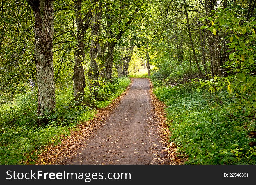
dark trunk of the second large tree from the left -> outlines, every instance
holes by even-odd
[[[77,45],[75,46],[74,50],[74,75],[72,77],[74,83],[74,99],[78,101],[80,104],[83,101],[84,96],[84,88],[85,88],[85,76],[84,76],[84,23],[82,19],[82,0],[77,0],[75,2],[75,15],[76,15],[76,25],[77,25],[77,33],[76,33],[76,41]]]

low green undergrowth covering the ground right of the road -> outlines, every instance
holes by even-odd
[[[227,92],[210,97],[204,89],[198,93],[160,86],[154,93],[168,106],[170,142],[188,157],[186,164],[256,164],[256,149],[248,145],[255,120],[227,117],[236,103]],[[234,116],[245,115],[240,111]]]

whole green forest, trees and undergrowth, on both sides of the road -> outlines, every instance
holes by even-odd
[[[255,3],[1,1],[0,164],[33,164],[148,76],[186,164],[255,164]]]

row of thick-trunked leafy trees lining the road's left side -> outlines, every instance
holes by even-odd
[[[44,117],[46,112],[54,110],[58,79],[65,82],[63,77],[71,75],[70,66],[73,66],[72,81],[77,104],[83,103],[86,77],[92,96],[97,99],[100,83],[111,81],[113,77],[117,43],[119,48],[129,48],[130,52],[124,51],[125,56],[114,66],[119,66],[122,74],[128,75],[134,38],[138,35],[134,28],[138,28],[146,16],[145,2],[2,1],[2,95],[11,95],[15,90],[17,93],[29,83],[31,87],[36,84],[37,114]],[[12,93],[8,93],[10,91]],[[40,121],[46,123],[47,119]]]

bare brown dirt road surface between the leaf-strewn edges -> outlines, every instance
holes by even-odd
[[[65,164],[166,164],[149,88],[148,79],[133,78],[120,105]]]

